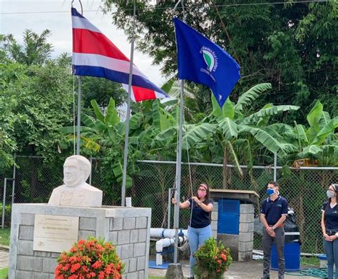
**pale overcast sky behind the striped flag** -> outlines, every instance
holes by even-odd
[[[74,7],[81,11],[78,0]],[[123,31],[111,23],[109,15],[98,10],[100,0],[83,0],[83,16],[100,29],[113,44],[130,58],[130,44]],[[53,44],[53,56],[62,52],[71,53],[71,0],[0,0],[0,33],[13,34],[22,42],[25,29],[41,34],[45,29],[51,30],[48,42]],[[91,11],[89,11],[91,10]],[[93,11],[96,10],[96,11]],[[165,81],[160,75],[160,66],[152,66],[152,59],[139,51],[134,53],[134,64],[158,86]]]

